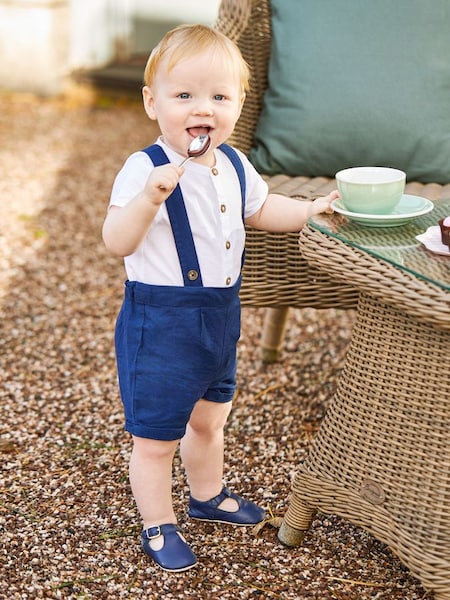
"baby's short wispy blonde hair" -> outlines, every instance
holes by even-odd
[[[168,57],[167,70],[170,71],[183,59],[208,51],[213,60],[222,54],[235,69],[239,77],[241,91],[248,92],[250,69],[236,44],[223,33],[206,25],[180,25],[167,32],[153,49],[144,71],[144,85],[153,83],[163,58]]]

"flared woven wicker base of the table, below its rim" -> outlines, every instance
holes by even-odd
[[[387,543],[450,598],[450,334],[362,294],[336,396],[299,466],[286,522],[315,509]],[[425,392],[425,393],[424,393]]]

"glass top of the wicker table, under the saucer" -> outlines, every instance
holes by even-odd
[[[428,214],[395,227],[368,227],[338,213],[315,215],[308,225],[450,291],[450,254],[437,254],[416,238],[429,227],[439,227],[439,219],[447,216],[450,199],[436,201]],[[428,235],[434,241],[437,231],[429,230]]]

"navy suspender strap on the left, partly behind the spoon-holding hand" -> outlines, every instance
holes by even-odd
[[[161,146],[158,146],[158,144],[153,144],[148,148],[144,148],[143,151],[149,155],[155,167],[170,162],[166,153]],[[184,285],[189,287],[201,287],[203,286],[203,282],[197,251],[195,250],[189,218],[179,185],[177,185],[171,195],[167,198],[166,208],[169,214],[173,237],[175,239],[178,260],[180,261],[181,271],[183,273]]]

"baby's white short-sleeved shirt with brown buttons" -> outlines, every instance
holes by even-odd
[[[157,142],[170,161],[180,164],[183,157]],[[263,205],[267,183],[256,172],[246,156],[237,151],[245,170],[245,217],[255,214]],[[242,223],[242,201],[235,168],[220,150],[215,151],[214,169],[195,160],[185,164],[180,187],[197,251],[203,285],[229,287],[239,277],[245,244]],[[135,152],[117,174],[111,192],[110,206],[125,206],[145,186],[154,168],[149,156]],[[214,174],[217,173],[217,174]],[[183,285],[183,275],[175,247],[165,203],[157,212],[139,248],[125,257],[125,270],[130,281],[153,285]]]

